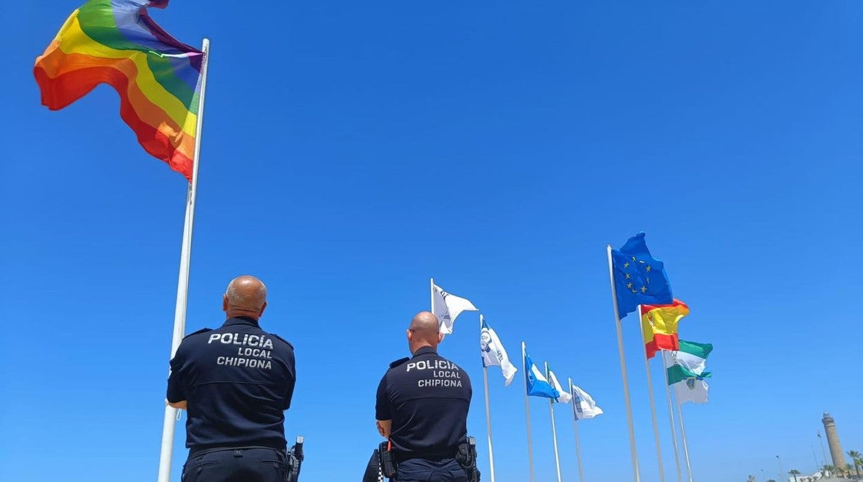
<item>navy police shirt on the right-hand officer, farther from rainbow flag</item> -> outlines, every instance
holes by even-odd
[[[375,418],[393,421],[396,460],[454,457],[467,441],[472,394],[468,373],[431,347],[391,365],[378,385]]]

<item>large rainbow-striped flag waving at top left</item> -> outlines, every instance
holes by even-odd
[[[144,150],[192,178],[204,53],[148,16],[168,0],[90,0],[60,28],[33,69],[42,104],[60,110],[108,84]]]

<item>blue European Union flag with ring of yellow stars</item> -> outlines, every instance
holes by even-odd
[[[639,304],[674,302],[665,265],[650,255],[644,233],[629,238],[619,250],[611,250],[611,260],[621,318],[635,311]]]

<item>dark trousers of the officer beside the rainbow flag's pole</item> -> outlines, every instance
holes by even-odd
[[[224,448],[193,454],[183,482],[285,482],[287,455],[274,448]]]

